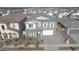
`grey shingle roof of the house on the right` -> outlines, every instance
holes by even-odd
[[[71,18],[62,18],[62,20],[59,20],[59,22],[67,28],[79,28],[79,21]]]

